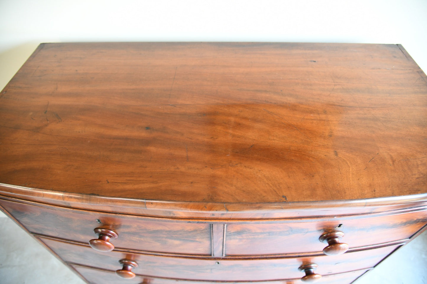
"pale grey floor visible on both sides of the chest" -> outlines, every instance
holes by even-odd
[[[84,284],[0,212],[1,284]],[[427,231],[355,284],[427,284]]]

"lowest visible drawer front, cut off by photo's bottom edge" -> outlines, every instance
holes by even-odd
[[[177,280],[177,279],[167,279],[167,278],[155,278],[148,276],[137,275],[133,279],[121,279],[118,278],[114,272],[97,270],[90,267],[72,265],[72,267],[80,273],[90,284],[209,284],[218,282],[209,282],[209,281],[186,281],[186,280]],[[328,284],[343,284],[351,283],[357,278],[359,278],[366,270],[357,270],[352,272],[327,275],[322,277],[316,283],[328,283]],[[286,281],[286,282],[284,282]],[[281,279],[280,281],[256,281],[256,282],[221,282],[227,284],[299,284],[303,283],[298,279]]]

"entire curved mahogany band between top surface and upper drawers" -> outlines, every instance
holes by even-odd
[[[101,212],[147,217],[171,217],[174,219],[267,220],[290,216],[304,218],[320,214],[323,216],[354,216],[357,214],[374,214],[396,209],[427,206],[427,193],[363,200],[281,203],[201,203],[95,196],[0,183],[0,195],[74,209],[90,208],[91,210]]]

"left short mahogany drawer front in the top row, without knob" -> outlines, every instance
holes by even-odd
[[[149,252],[211,255],[211,226],[202,223],[168,222],[83,210],[50,209],[0,200],[3,206],[32,233],[88,243],[97,238],[94,229],[112,229],[116,248]]]

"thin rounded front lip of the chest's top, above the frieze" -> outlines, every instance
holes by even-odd
[[[57,205],[86,205],[86,206],[108,206],[128,209],[146,209],[162,211],[181,212],[204,212],[204,213],[239,213],[239,212],[276,212],[276,211],[304,211],[304,210],[327,210],[345,207],[366,208],[403,205],[410,203],[427,202],[426,194],[414,194],[392,197],[375,197],[360,200],[322,200],[307,202],[282,202],[282,203],[214,203],[214,202],[189,202],[173,200],[146,200],[123,197],[108,197],[100,195],[76,194],[58,192],[46,189],[29,188],[18,185],[0,183],[0,195],[15,197],[30,201],[44,200],[44,203]]]

